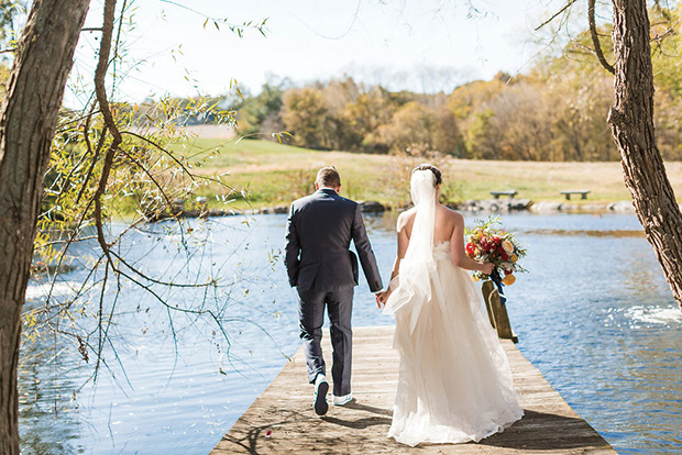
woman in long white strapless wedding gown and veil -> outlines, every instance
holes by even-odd
[[[415,207],[398,217],[398,254],[380,308],[396,320],[400,373],[389,437],[463,443],[502,432],[524,415],[509,362],[464,270],[490,275],[464,252],[464,220],[438,202],[441,173],[413,170]]]

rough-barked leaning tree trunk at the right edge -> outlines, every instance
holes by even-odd
[[[682,213],[653,130],[653,73],[646,0],[613,0],[616,103],[608,114],[625,185],[682,308]]]

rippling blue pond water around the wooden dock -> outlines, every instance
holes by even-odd
[[[206,454],[213,447],[299,346],[296,297],[277,257],[285,217],[255,217],[251,228],[243,221],[191,221],[204,247],[189,271],[176,266],[185,259],[177,233],[163,241],[133,233],[124,245],[145,270],[177,282],[193,274],[235,276],[229,297],[222,289],[206,299],[216,311],[228,302],[229,351],[215,325],[191,315],[170,315],[173,336],[165,309],[124,285],[110,332],[116,352],[106,346],[108,364],[96,386],[87,381],[94,359],[86,363],[68,336],[38,340],[30,349],[59,355],[53,362],[31,356],[21,367],[23,454]],[[618,453],[680,453],[682,313],[636,218],[522,213],[503,221],[528,249],[530,273],[507,288],[521,352]],[[366,217],[384,277],[395,254],[394,223],[391,213]],[[79,247],[87,256],[91,245]],[[63,275],[58,292],[69,296],[82,274]],[[29,308],[44,293],[33,284]],[[393,323],[365,282],[355,296],[354,325]],[[197,295],[163,297],[182,306]],[[74,313],[72,326],[90,330],[95,341],[92,323]]]

